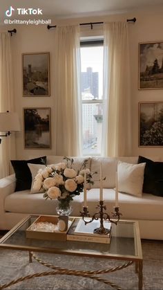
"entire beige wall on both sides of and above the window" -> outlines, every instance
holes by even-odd
[[[137,156],[161,156],[163,154],[162,147],[138,147],[138,102],[140,101],[163,101],[163,89],[155,90],[138,90],[138,43],[139,42],[155,42],[163,41],[163,17],[160,10],[152,10],[147,12],[133,12],[128,15],[106,15],[104,17],[87,17],[82,19],[62,19],[52,20],[52,24],[77,24],[90,21],[114,21],[126,20],[136,17],[135,24],[129,26],[129,42],[131,57],[131,117],[132,117],[132,139],[133,150],[132,155]],[[54,30],[48,30],[46,26],[4,26],[1,30],[17,28],[17,34],[11,37],[12,57],[14,67],[14,85],[15,85],[15,110],[19,113],[22,131],[17,133],[17,158],[28,158],[30,156],[40,156],[44,154],[55,154],[54,126],[52,130],[52,149],[23,149],[23,108],[24,107],[50,107],[51,123],[55,120],[55,96],[54,96]],[[90,29],[85,27],[89,33]],[[95,28],[98,30],[99,28]],[[93,33],[94,31],[93,30]],[[98,34],[98,32],[95,32]],[[22,75],[21,75],[21,53],[39,53],[50,52],[50,97],[22,97]]]

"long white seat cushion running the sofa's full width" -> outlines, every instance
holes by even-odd
[[[106,212],[111,215],[115,206],[115,190],[104,188],[104,205]],[[121,219],[144,219],[162,220],[162,197],[153,194],[142,194],[142,197],[119,192],[119,212],[122,212]],[[99,188],[93,188],[87,192],[87,206],[92,216],[97,212],[99,203]],[[73,212],[71,215],[79,216],[82,206],[84,206],[83,194],[74,197],[72,201]],[[44,199],[43,194],[29,194],[29,190],[23,190],[9,194],[4,203],[4,210],[24,214],[55,215],[57,212],[57,199]]]

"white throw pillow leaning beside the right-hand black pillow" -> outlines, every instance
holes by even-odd
[[[146,163],[131,164],[118,161],[117,183],[118,191],[142,197],[144,168]]]

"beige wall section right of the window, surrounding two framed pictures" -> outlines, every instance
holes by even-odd
[[[163,89],[138,90],[138,43],[163,41],[162,11],[140,13],[130,26],[133,155],[162,156],[163,147],[138,147],[138,102],[163,101]]]

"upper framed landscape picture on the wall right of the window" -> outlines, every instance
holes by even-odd
[[[163,89],[163,41],[139,44],[139,89]]]

